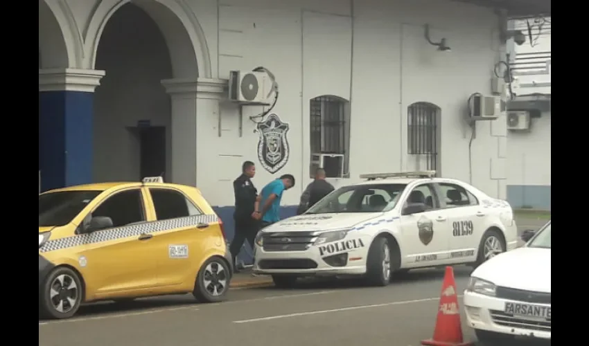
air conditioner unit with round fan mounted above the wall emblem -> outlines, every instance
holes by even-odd
[[[270,104],[267,95],[272,80],[265,72],[230,71],[229,100],[243,104]]]

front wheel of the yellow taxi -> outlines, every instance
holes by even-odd
[[[53,269],[42,286],[40,312],[46,318],[70,318],[82,302],[82,282],[70,268]]]

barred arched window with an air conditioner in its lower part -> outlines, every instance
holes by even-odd
[[[310,100],[311,176],[319,167],[317,155],[325,156],[323,167],[328,176],[341,177],[349,167],[349,102],[322,95]]]

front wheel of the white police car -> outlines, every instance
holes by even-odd
[[[391,246],[385,237],[370,245],[367,259],[367,279],[374,286],[387,286],[391,280]]]

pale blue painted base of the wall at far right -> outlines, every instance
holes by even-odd
[[[552,187],[550,185],[507,185],[507,201],[511,208],[551,210]]]

